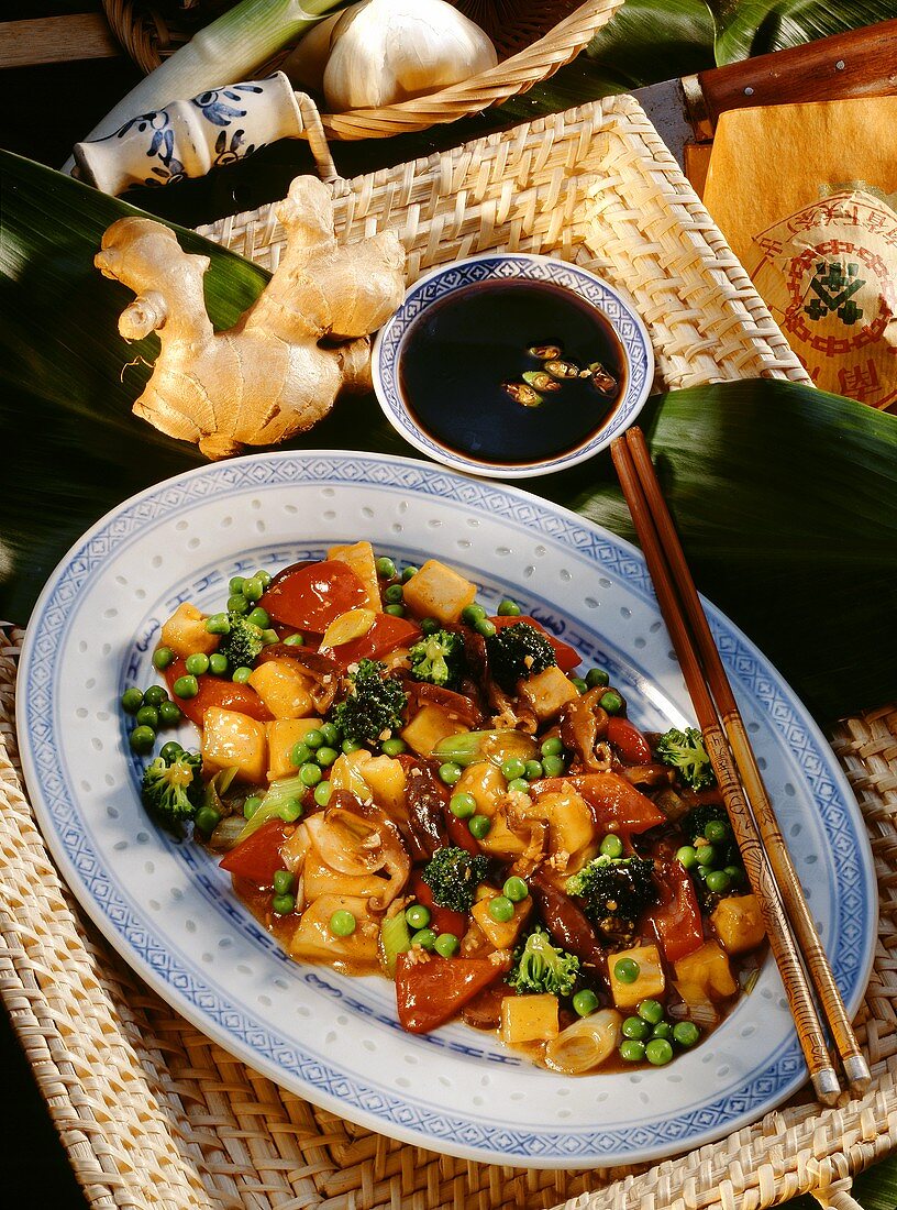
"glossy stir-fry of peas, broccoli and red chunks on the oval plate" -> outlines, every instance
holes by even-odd
[[[699,731],[642,732],[520,606],[369,542],[179,605],[131,687],[161,825],[220,855],[291,957],[394,980],[557,1072],[662,1066],[765,950]]]

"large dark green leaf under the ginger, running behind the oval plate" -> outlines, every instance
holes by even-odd
[[[77,536],[132,492],[198,465],[131,413],[155,338],[127,346],[129,292],[93,255],[126,213],[47,168],[0,155],[0,616],[25,622]],[[267,275],[190,232],[212,260],[209,313],[237,318]],[[821,720],[897,684],[897,417],[787,382],[672,392],[642,414],[701,590],[772,658]],[[412,451],[372,397],[346,399],[294,448]],[[528,486],[632,538],[601,455]]]

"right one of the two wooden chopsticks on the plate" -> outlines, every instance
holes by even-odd
[[[841,993],[832,974],[826,951],[822,947],[812,916],[810,915],[810,909],[804,898],[794,863],[791,859],[772,803],[763,784],[763,777],[747,737],[741,711],[735,702],[723,661],[719,657],[719,651],[710,632],[707,617],[698,597],[698,589],[691,580],[682,543],[676,532],[670,509],[666,507],[658,477],[654,473],[654,465],[650,460],[644,433],[641,428],[631,428],[629,431],[626,444],[656,528],[660,544],[670,566],[673,583],[678,590],[679,601],[691,630],[691,638],[698,647],[698,656],[704,666],[711,696],[716,702],[719,718],[729,739],[741,783],[753,812],[757,830],[779,885],[791,927],[806,969],[816,987],[838,1054],[841,1058],[844,1073],[847,1077],[850,1087],[855,1091],[862,1093],[869,1085],[869,1066],[851,1027]]]

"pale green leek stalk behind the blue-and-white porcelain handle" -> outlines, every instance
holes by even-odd
[[[151,71],[94,126],[87,139],[104,139],[139,114],[190,100],[202,92],[251,77],[278,51],[297,41],[341,0],[241,0],[198,30]],[[69,157],[63,172],[71,173]]]

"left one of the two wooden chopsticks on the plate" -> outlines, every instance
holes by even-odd
[[[630,430],[631,432],[632,430]],[[725,802],[733,834],[741,851],[751,888],[757,895],[763,924],[775,957],[800,1048],[817,1097],[833,1105],[840,1094],[838,1073],[826,1047],[826,1036],[816,1014],[812,992],[794,939],[788,927],[785,905],[766,862],[751,808],[739,782],[735,761],[717,716],[717,709],[704,679],[698,652],[688,630],[664,548],[636,469],[627,439],[617,438],[610,446],[617,474],[623,486],[632,520],[654,583],[660,611],[673,644],[689,696],[704,733],[719,791]]]

